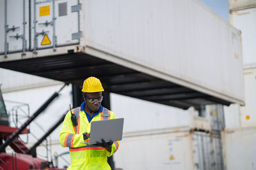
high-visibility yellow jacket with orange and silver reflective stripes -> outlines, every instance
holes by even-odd
[[[74,127],[71,121],[71,114],[76,115],[77,126]],[[112,111],[103,108],[97,116],[92,118],[92,121],[113,119],[116,118]],[[91,121],[91,122],[92,122]],[[111,152],[105,148],[93,145],[83,144],[85,141],[90,141],[89,139],[84,140],[83,134],[90,133],[91,122],[88,122],[86,113],[83,110],[80,111],[79,108],[72,110],[72,113],[68,111],[60,132],[60,143],[61,146],[68,147],[70,152],[71,165],[69,169],[109,169],[107,162],[107,157],[113,155],[119,146],[119,141],[115,141],[112,145]]]

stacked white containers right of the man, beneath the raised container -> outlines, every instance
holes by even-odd
[[[122,169],[224,169],[223,106],[180,110],[112,94],[111,106],[125,118],[114,160]],[[149,106],[149,107],[148,107]],[[132,108],[132,110],[129,110]]]

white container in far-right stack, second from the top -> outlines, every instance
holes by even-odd
[[[230,13],[230,23],[241,30],[244,67],[256,67],[256,1],[254,8]]]

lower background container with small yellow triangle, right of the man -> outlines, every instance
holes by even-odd
[[[223,169],[220,134],[156,129],[126,133],[121,145],[114,157],[116,168]]]

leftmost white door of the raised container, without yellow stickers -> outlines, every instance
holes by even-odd
[[[0,2],[0,53],[28,50],[29,1],[4,0]]]

